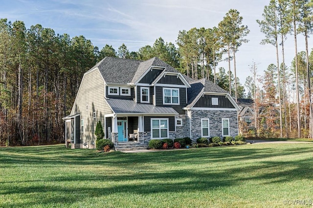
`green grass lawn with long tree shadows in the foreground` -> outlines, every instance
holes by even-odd
[[[312,203],[312,143],[146,153],[0,148],[0,207],[286,207],[284,200]]]

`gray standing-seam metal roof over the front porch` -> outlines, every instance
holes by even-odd
[[[179,114],[171,107],[136,103],[134,100],[105,99],[114,113]]]

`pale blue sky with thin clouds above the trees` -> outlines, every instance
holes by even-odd
[[[269,0],[1,0],[0,18],[22,20],[26,28],[41,24],[56,34],[71,38],[83,35],[101,50],[105,44],[117,51],[125,43],[129,51],[153,45],[157,38],[175,43],[179,30],[217,26],[229,9],[237,9],[250,33],[236,54],[237,76],[243,84],[251,75],[249,65],[258,63],[258,73],[276,63],[275,47],[260,45],[264,35],[256,19],[262,19]],[[304,50],[299,36],[298,51]],[[312,44],[309,48],[311,49]],[[294,43],[286,41],[286,64],[291,65]],[[218,67],[228,70],[228,63]],[[233,71],[233,64],[231,63]]]

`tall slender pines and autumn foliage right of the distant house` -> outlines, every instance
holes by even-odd
[[[312,0],[270,0],[262,19],[257,20],[265,38],[261,44],[276,49],[276,63],[264,70],[259,77],[263,86],[255,86],[256,70],[252,64],[252,76],[247,79],[250,96],[255,100],[255,127],[257,131],[274,132],[277,137],[313,137],[312,67],[313,52],[308,39],[313,32]],[[298,36],[302,34],[303,36]],[[297,38],[304,38],[306,51],[298,52]],[[286,41],[294,43],[294,59],[285,63]],[[280,53],[281,52],[281,53]],[[259,107],[258,107],[259,106]],[[260,115],[260,108],[267,108]]]

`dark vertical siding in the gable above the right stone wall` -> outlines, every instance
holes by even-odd
[[[219,105],[212,105],[212,97],[219,99]],[[235,106],[224,95],[204,95],[196,102],[194,107],[197,108],[235,108]]]

